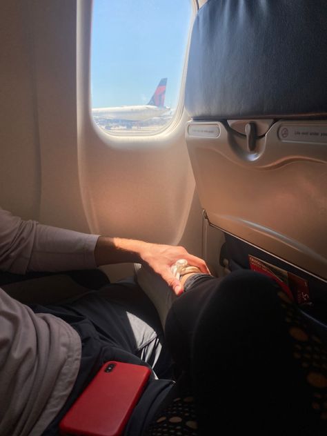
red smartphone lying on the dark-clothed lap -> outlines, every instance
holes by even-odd
[[[61,420],[60,434],[121,435],[150,372],[146,366],[106,362]]]

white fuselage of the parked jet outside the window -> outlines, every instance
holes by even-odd
[[[126,121],[145,121],[153,117],[159,117],[169,110],[166,106],[117,106],[110,108],[92,109],[95,117],[119,119]]]

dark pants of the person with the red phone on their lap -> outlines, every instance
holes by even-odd
[[[59,422],[75,399],[108,360],[149,366],[152,376],[132,413],[125,435],[141,435],[173,386],[172,361],[152,303],[133,281],[120,281],[63,304],[32,305],[66,321],[81,337],[81,366],[61,412],[43,432],[57,435]]]

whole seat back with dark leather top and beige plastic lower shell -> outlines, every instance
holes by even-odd
[[[327,298],[326,16],[321,0],[209,0],[192,30],[185,98],[199,198],[210,225],[228,235],[229,266],[255,269],[259,259],[261,269],[302,277],[302,288],[312,281],[319,298]]]

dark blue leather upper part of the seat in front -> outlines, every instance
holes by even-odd
[[[326,0],[209,0],[192,30],[185,106],[195,119],[323,117]]]

